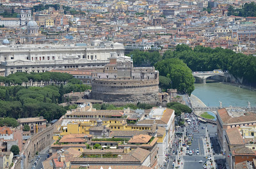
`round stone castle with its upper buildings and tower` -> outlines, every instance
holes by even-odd
[[[159,71],[154,67],[133,67],[131,57],[116,58],[92,72],[92,99],[115,103],[157,103]]]

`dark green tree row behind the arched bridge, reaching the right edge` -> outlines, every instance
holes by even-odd
[[[253,55],[220,47],[197,46],[191,49],[188,45],[177,45],[175,51],[167,50],[164,53],[163,59],[169,58],[181,59],[193,71],[228,70],[234,77],[243,78],[244,83],[256,84],[256,57]]]

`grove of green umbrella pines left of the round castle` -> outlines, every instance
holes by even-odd
[[[19,85],[22,82],[29,83],[28,79],[37,79],[37,82],[44,79],[45,84],[52,80],[54,83],[45,87]],[[81,84],[80,80],[74,79],[72,75],[70,77],[67,73],[15,73],[0,79],[2,83],[17,81],[20,81],[17,85],[0,86],[0,117],[18,119],[42,115],[48,121],[59,119],[67,109],[73,108],[57,105],[62,103],[63,94],[90,89],[88,85]],[[63,82],[68,84],[63,85]]]

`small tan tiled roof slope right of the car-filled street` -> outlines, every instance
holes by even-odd
[[[243,138],[238,130],[238,128],[230,128],[226,130],[227,136],[228,136],[228,140],[230,142],[231,145],[234,144],[244,144],[243,142]]]

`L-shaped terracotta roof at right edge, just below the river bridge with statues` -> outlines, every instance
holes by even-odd
[[[218,110],[218,114],[221,118],[221,121],[225,124],[239,123],[239,122],[256,122],[256,114],[252,112],[246,113],[240,117],[231,117],[228,115],[226,108],[221,108]]]

